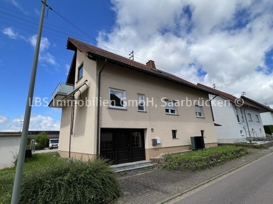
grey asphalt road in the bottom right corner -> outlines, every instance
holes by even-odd
[[[272,204],[273,154],[263,157],[176,203]]]

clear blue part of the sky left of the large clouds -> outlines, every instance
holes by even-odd
[[[111,10],[111,3],[106,0],[78,1],[78,4],[74,4],[74,1],[49,0],[47,4],[95,39],[99,31],[109,31],[115,24],[115,13]],[[0,76],[2,100],[0,100],[0,115],[7,117],[8,120],[23,118],[24,115],[34,55],[34,46],[31,39],[37,33],[38,26],[38,21],[34,19],[39,19],[40,10],[41,1],[38,0],[1,1]],[[69,36],[96,44],[96,42],[80,36],[83,34],[50,10],[47,18],[44,20],[43,31],[46,45],[40,52],[42,59],[40,59],[38,64],[34,92],[35,97],[41,98],[51,97],[57,84],[66,81],[67,65],[70,65],[73,56],[72,51],[66,50],[66,40]],[[32,116],[49,116],[54,121],[59,121],[60,112],[61,109],[33,107]],[[6,126],[4,127],[4,125]],[[5,129],[7,125],[10,126],[11,123],[0,123],[0,130],[1,126]],[[14,128],[17,127],[18,124],[15,124]],[[10,128],[13,129],[13,127]]]

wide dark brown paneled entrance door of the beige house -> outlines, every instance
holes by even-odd
[[[143,129],[101,129],[101,157],[112,164],[145,160]]]

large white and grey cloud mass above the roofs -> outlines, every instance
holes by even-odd
[[[216,83],[220,90],[237,96],[246,91],[248,97],[273,105],[273,90],[268,88],[273,73],[268,73],[265,63],[265,54],[273,48],[272,1],[112,3],[116,24],[97,38],[123,49],[112,50],[126,57],[134,50],[135,60],[141,63],[151,59],[157,68],[193,83]],[[201,77],[199,69],[207,75]],[[260,88],[264,89],[251,92]]]

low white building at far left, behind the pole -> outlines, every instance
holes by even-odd
[[[21,132],[0,134],[0,169],[14,166],[14,155],[19,152]]]

